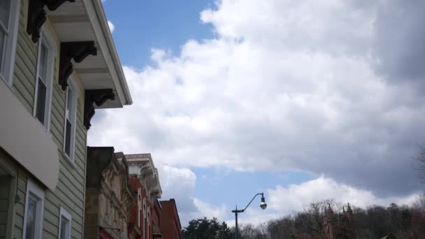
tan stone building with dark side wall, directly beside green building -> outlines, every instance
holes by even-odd
[[[87,147],[84,238],[127,238],[130,187],[124,154],[113,147]]]

